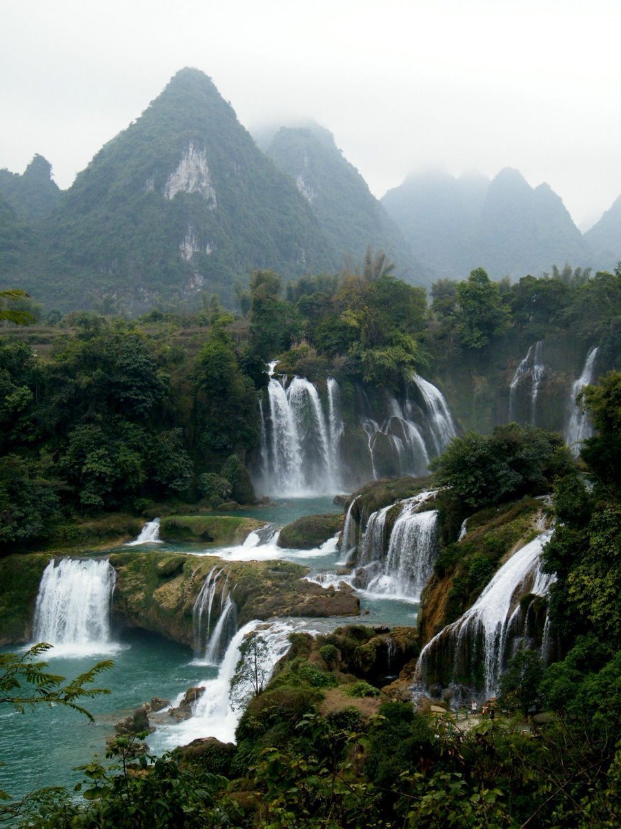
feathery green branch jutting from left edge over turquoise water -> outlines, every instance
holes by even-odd
[[[65,676],[50,673],[47,670],[49,664],[38,661],[38,657],[51,647],[47,642],[40,642],[21,655],[0,653],[0,705],[8,703],[22,713],[26,705],[66,705],[86,715],[93,722],[93,715],[84,705],[80,705],[79,700],[110,693],[108,688],[87,686],[94,682],[102,671],[113,667],[113,662],[98,662],[65,685]]]

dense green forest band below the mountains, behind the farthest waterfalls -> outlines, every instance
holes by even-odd
[[[0,545],[62,540],[76,517],[170,500],[252,502],[258,393],[276,357],[279,371],[312,381],[331,374],[398,392],[412,371],[456,371],[512,337],[570,332],[599,343],[610,367],[619,354],[619,269],[513,285],[477,269],[434,284],[429,306],[392,269],[368,250],[359,271],[305,277],[285,296],[277,274],[258,271],[237,314],[214,297],[199,313],[60,318],[7,298],[37,326],[4,322],[0,340]]]

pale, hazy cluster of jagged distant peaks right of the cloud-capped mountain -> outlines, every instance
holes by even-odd
[[[482,266],[493,279],[549,271],[552,264],[595,264],[561,198],[530,187],[517,170],[455,179],[411,176],[382,199],[414,255],[439,276],[463,279]]]

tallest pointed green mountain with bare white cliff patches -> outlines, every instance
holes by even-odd
[[[192,303],[201,290],[230,303],[234,283],[257,268],[289,278],[337,264],[293,182],[194,69],[178,72],[79,173],[46,226],[42,256],[45,282],[22,280],[37,298],[63,309],[107,296],[134,313]]]

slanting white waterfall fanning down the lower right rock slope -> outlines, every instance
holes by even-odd
[[[433,679],[444,670],[455,681],[479,688],[484,698],[498,693],[521,599],[525,594],[545,597],[553,581],[540,569],[540,555],[550,536],[551,531],[542,532],[513,553],[473,606],[427,643],[416,668],[418,685],[426,685],[430,676]]]

